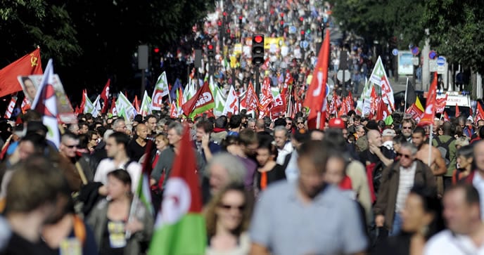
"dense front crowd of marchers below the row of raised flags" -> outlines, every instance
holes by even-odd
[[[302,112],[274,121],[244,112],[78,117],[63,125],[58,150],[37,112],[2,125],[1,254],[144,254],[174,159],[184,157],[184,126],[196,152],[206,254],[483,251],[482,120],[435,119],[431,130],[397,114],[387,126],[348,112],[308,130]],[[155,214],[132,202],[144,162],[153,168]]]

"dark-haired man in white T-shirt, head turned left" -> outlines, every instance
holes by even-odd
[[[138,188],[139,178],[141,177],[141,164],[136,161],[131,161],[127,155],[127,145],[129,143],[129,136],[125,133],[114,132],[110,134],[106,140],[106,152],[108,158],[99,162],[94,181],[108,183],[108,174],[110,171],[116,169],[125,169],[131,177],[131,187],[134,192]],[[102,194],[104,190],[100,188],[99,192]]]

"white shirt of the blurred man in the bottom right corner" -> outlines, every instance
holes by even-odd
[[[428,240],[424,255],[484,255],[484,246],[476,247],[468,236],[444,230]]]

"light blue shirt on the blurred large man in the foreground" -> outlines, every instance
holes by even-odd
[[[298,197],[298,184],[274,183],[262,192],[250,223],[250,240],[272,254],[352,254],[368,240],[357,204],[327,185],[310,204]]]

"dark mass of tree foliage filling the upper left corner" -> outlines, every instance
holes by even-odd
[[[205,0],[4,0],[0,67],[40,46],[44,65],[53,58],[68,94],[94,85],[102,89],[108,77],[117,86],[113,91],[122,90],[133,85],[138,45],[162,51],[179,45],[177,39],[190,33],[212,5]]]

